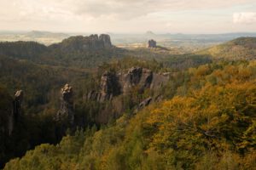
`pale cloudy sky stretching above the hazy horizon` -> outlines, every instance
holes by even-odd
[[[256,31],[256,0],[0,0],[0,30]]]

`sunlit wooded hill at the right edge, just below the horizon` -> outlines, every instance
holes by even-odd
[[[255,59],[256,37],[239,37],[213,48],[207,48],[198,54],[210,54],[215,59]]]

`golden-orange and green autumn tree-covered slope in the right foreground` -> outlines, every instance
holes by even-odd
[[[4,169],[253,169],[255,62],[201,65],[175,96],[96,131],[41,144]],[[175,81],[177,82],[177,80]]]

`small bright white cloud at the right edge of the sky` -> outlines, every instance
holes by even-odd
[[[253,24],[256,23],[256,13],[235,13],[233,14],[233,22],[236,24]]]

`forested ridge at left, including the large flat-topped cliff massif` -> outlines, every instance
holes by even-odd
[[[108,35],[69,37],[45,46],[38,42],[0,42],[0,54],[28,59],[37,64],[95,68],[103,62],[124,56],[124,49],[112,46]]]

